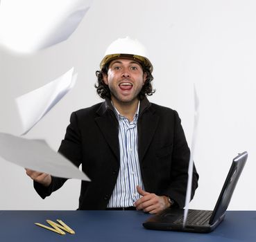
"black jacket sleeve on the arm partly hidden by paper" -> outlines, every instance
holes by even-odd
[[[76,113],[71,114],[70,124],[67,127],[65,139],[62,140],[58,152],[70,160],[76,167],[79,167],[81,160],[81,149],[80,149],[80,131],[78,129],[78,118]],[[44,187],[40,183],[34,181],[34,188],[37,194],[42,198],[50,196],[52,192],[58,190],[65,183],[67,178],[58,178],[51,176],[51,185]]]

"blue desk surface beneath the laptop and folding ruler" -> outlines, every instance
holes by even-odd
[[[148,216],[138,211],[0,211],[0,241],[256,241],[256,211],[227,212],[210,234],[146,230],[142,222]],[[76,234],[60,235],[34,225],[58,218]]]

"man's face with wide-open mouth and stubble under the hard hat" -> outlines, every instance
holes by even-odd
[[[114,59],[110,62],[108,75],[103,75],[108,85],[112,100],[128,104],[137,100],[146,81],[142,66],[133,59]]]

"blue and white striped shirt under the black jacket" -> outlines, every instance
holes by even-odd
[[[120,168],[108,207],[131,207],[141,197],[136,186],[139,185],[144,189],[138,156],[137,120],[139,104],[132,122],[121,115],[115,107],[114,110],[119,122]]]

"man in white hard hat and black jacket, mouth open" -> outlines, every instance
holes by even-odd
[[[178,113],[148,102],[153,65],[137,40],[117,39],[96,71],[105,102],[71,114],[59,152],[82,169],[78,210],[184,207],[189,148]],[[27,169],[42,198],[67,179]],[[198,186],[194,168],[191,198]]]

